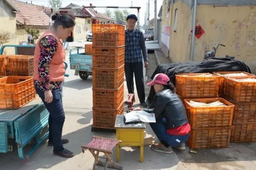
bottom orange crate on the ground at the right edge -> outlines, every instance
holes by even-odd
[[[256,123],[233,123],[230,142],[255,142]]]

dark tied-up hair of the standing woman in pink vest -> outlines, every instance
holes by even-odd
[[[55,29],[57,29],[58,26],[62,26],[63,28],[71,28],[76,24],[72,16],[61,15],[58,13],[52,16],[52,20],[54,21],[53,27]]]

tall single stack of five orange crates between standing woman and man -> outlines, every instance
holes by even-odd
[[[112,129],[124,112],[124,26],[93,24],[92,36],[92,126]]]

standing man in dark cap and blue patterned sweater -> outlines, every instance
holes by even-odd
[[[128,29],[125,31],[125,61],[124,71],[126,77],[126,85],[128,93],[134,93],[133,75],[137,88],[140,104],[147,107],[145,102],[145,88],[143,77],[143,62],[144,67],[148,68],[148,54],[143,33],[140,30],[134,29],[138,18],[134,14],[130,14],[126,18]]]

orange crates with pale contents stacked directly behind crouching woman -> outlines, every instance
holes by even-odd
[[[187,141],[192,149],[225,148],[229,146],[234,105],[218,97],[220,77],[210,73],[176,75],[176,93],[185,105],[191,126]],[[202,103],[220,101],[222,107],[194,107],[190,100]]]

